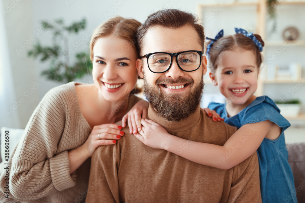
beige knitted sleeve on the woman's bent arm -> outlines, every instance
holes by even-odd
[[[75,185],[68,151],[57,148],[69,129],[67,116],[66,97],[51,89],[30,117],[12,158],[9,190],[16,199],[38,199]]]

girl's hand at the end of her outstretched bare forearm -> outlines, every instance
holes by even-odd
[[[145,145],[156,148],[156,149],[165,149],[167,144],[167,138],[170,135],[165,128],[163,128],[160,124],[149,120],[143,119],[141,120],[142,130],[134,135]]]

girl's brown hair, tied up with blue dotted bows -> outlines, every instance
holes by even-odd
[[[254,36],[258,41],[260,41],[260,43],[262,43],[262,46],[264,47],[264,41],[262,40],[260,35],[254,34]],[[232,51],[237,47],[240,47],[244,50],[253,51],[253,54],[256,57],[256,65],[258,68],[260,68],[263,56],[260,54],[260,50],[255,45],[253,40],[243,34],[234,34],[221,37],[210,48],[208,55],[210,56],[211,72],[215,72],[221,57],[226,56],[228,54],[228,51]]]

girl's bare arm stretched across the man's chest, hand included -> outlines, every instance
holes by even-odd
[[[213,145],[170,135],[160,124],[142,119],[142,131],[135,136],[145,145],[165,149],[190,161],[219,169],[230,169],[250,157],[260,146],[273,123],[269,120],[245,124],[224,144]],[[210,136],[213,136],[211,133]],[[185,142],[188,147],[178,150]]]

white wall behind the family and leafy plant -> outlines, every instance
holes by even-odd
[[[4,9],[12,4],[15,0],[2,0],[2,7]],[[26,40],[30,40],[31,36],[34,37],[33,44],[37,40],[40,40],[42,44],[51,43],[51,34],[48,31],[42,31],[37,34],[40,29],[40,22],[42,20],[54,20],[63,18],[66,24],[70,24],[74,21],[79,21],[82,17],[87,19],[87,28],[77,36],[72,36],[69,39],[69,43],[72,44],[75,41],[81,39],[85,33],[91,35],[95,27],[108,18],[116,15],[123,16],[125,18],[135,18],[140,22],[144,22],[149,14],[159,9],[176,8],[185,10],[192,13],[197,12],[197,5],[199,3],[219,3],[231,0],[153,0],[153,1],[135,1],[135,0],[121,0],[121,5],[118,8],[113,9],[113,13],[109,16],[109,9],[111,10],[114,4],[117,4],[119,0],[111,1],[98,1],[98,0],[53,0],[53,1],[41,1],[41,0],[21,0],[14,6],[11,11],[5,15],[6,34],[9,44],[9,54],[12,64],[12,73],[14,78],[14,85],[16,87],[16,100],[24,98],[25,102],[17,109],[16,113],[20,117],[19,128],[24,128],[27,121],[32,114],[35,107],[38,105],[41,98],[52,87],[60,85],[60,83],[46,80],[40,75],[41,71],[48,67],[48,63],[41,63],[38,60],[27,57],[27,51],[30,47],[25,48],[25,51],[19,55],[16,53],[16,49],[20,49],[20,45],[26,43]],[[3,12],[2,12],[3,14]],[[4,15],[4,14],[3,14]],[[220,19],[215,24],[215,27],[222,27],[225,25],[228,19]],[[1,28],[0,28],[1,29]],[[213,36],[210,36],[213,37]],[[32,38],[33,39],[33,38]],[[90,37],[87,41],[81,44],[77,51],[88,51]],[[32,45],[30,44],[30,45]],[[73,58],[70,59],[70,62]],[[81,82],[90,82],[91,76],[86,76]],[[34,86],[34,82],[38,82],[39,87],[31,95],[26,98],[24,94],[26,91],[30,91]],[[272,86],[272,85],[271,85]],[[215,89],[211,84],[205,87],[205,93],[214,92]],[[6,107],[9,109],[9,106]],[[1,124],[0,124],[1,125]],[[7,126],[10,127],[10,126]],[[15,127],[15,126],[14,126]]]

